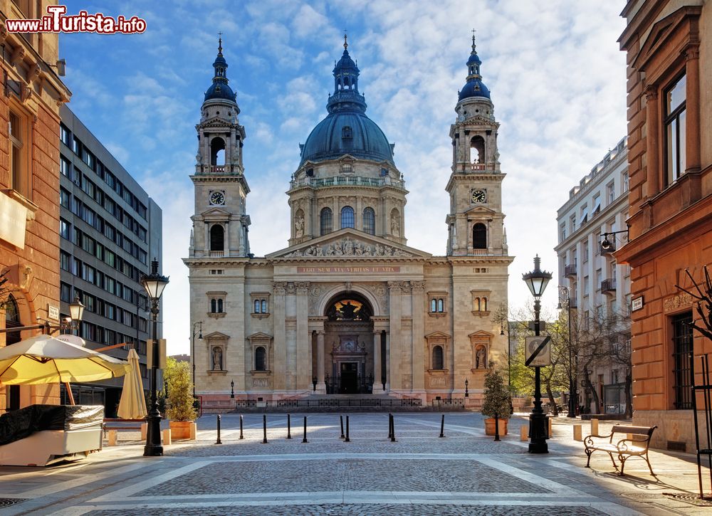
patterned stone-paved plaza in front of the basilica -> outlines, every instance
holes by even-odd
[[[657,479],[642,459],[619,477],[604,453],[585,468],[572,421],[555,418],[550,453],[531,455],[519,439],[525,416],[511,419],[501,442],[485,436],[480,414],[350,414],[350,442],[338,414],[261,414],[198,421],[197,441],[142,457],[137,433],[120,432],[78,463],[49,468],[0,467],[1,515],[703,515],[697,468],[689,454],[651,452]],[[580,423],[581,421],[576,421]],[[584,434],[589,423],[583,422]],[[609,428],[602,422],[600,432]],[[106,441],[105,441],[106,443]],[[709,473],[705,469],[706,486]]]

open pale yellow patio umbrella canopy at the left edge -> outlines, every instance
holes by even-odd
[[[122,377],[127,362],[65,342],[36,335],[0,348],[0,384],[68,384]]]

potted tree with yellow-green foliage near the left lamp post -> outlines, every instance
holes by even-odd
[[[188,362],[168,357],[164,372],[166,382],[166,415],[170,421],[172,439],[189,439],[191,425],[197,418],[193,407],[193,384]]]

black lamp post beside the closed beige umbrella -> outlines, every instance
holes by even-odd
[[[158,260],[155,258],[151,262],[151,273],[143,275],[141,278],[143,288],[146,289],[151,300],[151,322],[152,322],[152,345],[151,345],[151,408],[148,411],[146,420],[148,431],[146,434],[146,446],[143,455],[162,456],[163,446],[161,444],[161,413],[158,411],[158,396],[156,393],[156,382],[158,374],[158,303],[163,294],[163,289],[168,285],[168,278],[158,273]]]

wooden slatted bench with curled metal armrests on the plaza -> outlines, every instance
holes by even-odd
[[[604,451],[608,453],[608,456],[611,458],[614,468],[616,469],[618,469],[618,465],[613,458],[613,454],[615,453],[618,456],[618,460],[621,461],[621,470],[619,473],[621,476],[623,476],[625,461],[630,457],[644,458],[645,462],[648,463],[650,474],[656,476],[655,473],[653,473],[653,468],[650,465],[650,460],[648,459],[650,438],[653,435],[655,428],[658,427],[614,425],[611,429],[611,433],[607,436],[586,436],[583,441],[585,452],[588,456],[588,460],[586,460],[586,467],[591,467],[591,454],[593,452]],[[618,436],[623,435],[624,438],[614,443],[613,438],[616,434],[618,434]],[[597,439],[599,439],[599,441],[597,441]]]

